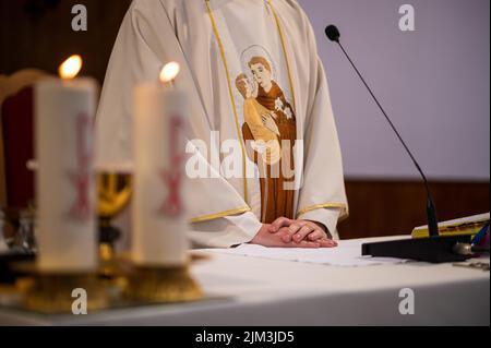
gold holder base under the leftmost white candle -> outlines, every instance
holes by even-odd
[[[38,273],[28,283],[23,305],[31,311],[46,314],[71,313],[77,300],[72,297],[74,289],[85,290],[87,311],[109,307],[109,298],[96,274]]]

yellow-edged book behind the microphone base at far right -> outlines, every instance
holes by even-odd
[[[486,225],[489,225],[489,213],[440,223],[439,232],[442,236],[477,235]],[[411,236],[414,238],[428,237],[428,226],[416,227]]]

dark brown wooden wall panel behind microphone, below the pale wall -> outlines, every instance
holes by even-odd
[[[489,212],[489,182],[432,182],[440,220]],[[426,191],[420,182],[346,182],[350,217],[339,225],[342,238],[410,233],[427,225]]]

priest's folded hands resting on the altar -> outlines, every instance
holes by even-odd
[[[294,220],[279,217],[272,224],[264,224],[251,244],[277,248],[335,248],[322,224],[310,220]]]

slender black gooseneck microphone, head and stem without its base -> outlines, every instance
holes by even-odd
[[[438,218],[436,218],[436,208],[435,208],[433,196],[432,196],[431,190],[430,190],[430,185],[428,183],[427,177],[424,176],[424,172],[422,171],[422,169],[419,166],[418,161],[416,160],[415,156],[410,152],[409,147],[404,142],[404,140],[400,136],[399,132],[397,131],[397,129],[395,128],[394,123],[392,122],[391,118],[387,116],[387,113],[385,112],[384,108],[382,107],[382,105],[379,103],[379,100],[376,99],[375,95],[373,94],[372,89],[369,87],[369,85],[364,81],[363,76],[361,75],[361,73],[359,72],[359,70],[357,69],[355,63],[352,62],[351,58],[349,58],[349,56],[346,52],[345,48],[340,44],[340,41],[339,41],[339,37],[340,37],[339,29],[335,25],[327,25],[327,27],[325,28],[325,35],[327,36],[327,38],[330,40],[332,40],[334,43],[337,43],[339,45],[339,47],[343,50],[343,52],[345,53],[346,58],[349,60],[349,62],[351,63],[352,68],[357,72],[358,76],[361,79],[361,81],[363,82],[364,86],[370,92],[370,95],[372,96],[373,100],[375,100],[375,103],[379,106],[380,110],[382,111],[382,113],[384,115],[385,119],[387,120],[388,124],[391,125],[391,128],[393,129],[395,134],[397,135],[398,140],[403,144],[403,146],[406,149],[406,152],[409,155],[409,157],[411,158],[412,163],[416,166],[416,169],[418,169],[419,173],[421,175],[421,178],[422,178],[422,180],[424,182],[424,188],[427,190],[427,197],[428,197],[427,199],[428,230],[429,230],[430,237],[439,236],[439,221],[438,221]]]

